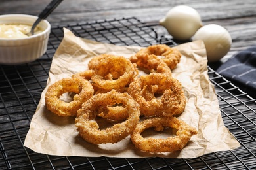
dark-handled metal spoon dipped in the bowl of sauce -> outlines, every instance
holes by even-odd
[[[47,7],[39,14],[37,20],[33,23],[32,28],[29,33],[26,33],[26,35],[31,36],[34,34],[34,29],[41,22],[41,20],[47,18],[51,12],[53,12],[54,9],[62,2],[63,0],[53,0],[51,1]]]

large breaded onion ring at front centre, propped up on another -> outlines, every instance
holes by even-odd
[[[99,129],[94,119],[102,112],[102,107],[104,109],[116,104],[122,104],[127,109],[129,115],[127,120],[106,129]],[[139,105],[128,93],[118,93],[112,90],[108,93],[94,95],[83,103],[82,108],[77,111],[75,126],[79,135],[89,143],[117,143],[133,133],[139,122],[139,116]]]

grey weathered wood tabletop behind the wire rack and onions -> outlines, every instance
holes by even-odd
[[[38,15],[51,0],[1,0],[0,14]],[[74,24],[108,18],[135,16],[142,22],[158,24],[167,11],[176,5],[188,5],[198,10],[203,24],[219,24],[232,37],[230,52],[256,45],[255,0],[64,0],[47,18],[51,25]]]

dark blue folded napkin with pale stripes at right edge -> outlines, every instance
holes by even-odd
[[[238,52],[228,59],[217,73],[230,80],[251,97],[256,97],[256,46]]]

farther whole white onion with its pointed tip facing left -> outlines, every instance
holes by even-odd
[[[186,5],[173,7],[159,23],[178,40],[189,40],[202,27],[200,14]]]

